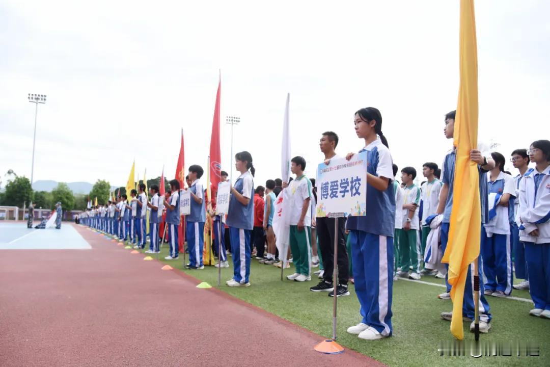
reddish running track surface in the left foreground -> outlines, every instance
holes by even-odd
[[[1,367],[383,366],[75,228],[91,250],[1,251]]]

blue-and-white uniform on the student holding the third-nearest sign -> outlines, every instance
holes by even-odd
[[[199,179],[196,179],[189,188],[191,193],[198,198],[204,199],[204,189]],[[202,266],[202,250],[204,249],[204,229],[206,222],[206,212],[204,201],[202,204],[193,199],[191,196],[191,211],[185,216],[185,236],[187,239],[187,247],[189,248],[189,265]]]

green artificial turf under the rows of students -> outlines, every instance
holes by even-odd
[[[164,245],[159,259],[175,269],[208,282],[217,287],[218,269],[205,266],[204,270],[183,269],[183,254],[180,259],[164,260],[168,255]],[[156,255],[152,255],[156,258]],[[314,293],[309,288],[317,284],[314,276],[311,282],[294,282],[286,279],[294,269],[284,270],[281,281],[281,269],[272,265],[262,265],[252,260],[251,287],[230,288],[225,282],[233,276],[232,259],[228,257],[230,267],[222,269],[221,287],[234,297],[256,305],[272,314],[293,322],[326,338],[332,336],[333,299],[326,292]],[[423,281],[443,284],[443,280],[426,276]],[[451,311],[452,302],[441,300],[437,294],[443,287],[430,286],[399,280],[393,288],[393,336],[378,341],[363,341],[346,333],[346,328],[361,321],[359,302],[354,287],[350,284],[350,296],[338,298],[337,342],[346,348],[356,350],[392,367],[411,366],[549,366],[550,365],[550,320],[529,316],[533,308],[531,303],[511,299],[489,297],[493,314],[491,331],[482,334],[480,339],[489,342],[516,343],[532,341],[540,346],[539,357],[441,357],[438,354],[439,343],[452,342],[450,322],[441,319],[442,311]],[[514,290],[515,297],[529,298],[526,291]],[[470,323],[464,322],[466,341],[474,341],[469,330]],[[320,339],[321,341],[321,339]],[[268,346],[266,346],[268,347]],[[313,348],[313,346],[311,346]]]

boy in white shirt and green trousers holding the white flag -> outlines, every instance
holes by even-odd
[[[290,190],[290,249],[296,272],[288,280],[305,282],[311,280],[311,181],[305,176],[306,161],[297,156],[291,160],[290,171],[296,175],[283,188]]]

